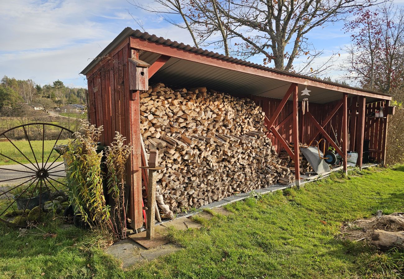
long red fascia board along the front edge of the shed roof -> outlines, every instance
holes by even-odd
[[[175,58],[179,58],[179,59],[183,59],[183,60],[198,62],[198,63],[204,64],[204,65],[220,67],[223,69],[229,69],[229,70],[238,71],[238,72],[242,72],[242,73],[249,73],[252,75],[268,77],[271,79],[288,81],[290,83],[299,83],[299,84],[303,84],[303,85],[324,88],[327,90],[335,90],[338,92],[343,92],[343,93],[348,93],[348,94],[353,94],[353,95],[367,96],[367,97],[379,98],[379,99],[383,99],[383,100],[391,100],[391,96],[379,95],[379,94],[375,94],[375,93],[364,92],[361,90],[354,90],[351,88],[345,88],[345,87],[340,87],[337,85],[330,85],[330,84],[322,83],[320,81],[313,81],[313,80],[304,79],[301,77],[292,77],[292,76],[281,74],[281,73],[275,73],[275,72],[267,71],[264,69],[257,69],[254,67],[249,67],[247,65],[242,65],[242,64],[235,63],[235,62],[230,62],[230,61],[222,60],[219,58],[214,58],[214,57],[206,56],[203,54],[198,54],[198,53],[191,52],[188,50],[182,50],[179,48],[174,48],[172,46],[166,46],[164,44],[150,42],[150,41],[143,40],[143,39],[140,39],[137,37],[130,37],[129,42],[130,42],[130,48],[133,48],[133,49],[154,52],[154,53],[171,56],[171,57],[175,57]]]

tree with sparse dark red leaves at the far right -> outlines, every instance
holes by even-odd
[[[352,40],[341,65],[347,72],[345,79],[386,93],[404,85],[403,8],[386,4],[372,11],[359,10],[344,29]]]

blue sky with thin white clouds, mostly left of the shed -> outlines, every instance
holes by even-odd
[[[139,29],[126,9],[143,22],[148,33],[192,44],[185,30],[136,10],[126,0],[1,0],[0,77],[33,79],[41,85],[60,79],[68,86],[86,87],[79,73],[90,60],[125,27]],[[341,48],[349,44],[342,26],[340,22],[308,34],[317,49],[324,49],[321,60],[340,52],[337,64],[342,62]],[[249,60],[262,63],[262,57]],[[330,72],[333,78],[340,74]]]

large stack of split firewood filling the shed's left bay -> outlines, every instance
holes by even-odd
[[[143,140],[162,154],[157,182],[173,212],[290,178],[252,100],[159,83],[140,103]]]

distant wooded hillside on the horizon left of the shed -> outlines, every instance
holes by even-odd
[[[41,86],[32,79],[15,79],[6,75],[0,82],[0,116],[4,109],[18,109],[22,104],[40,104],[45,110],[66,104],[86,104],[87,90],[68,87],[62,81]]]

